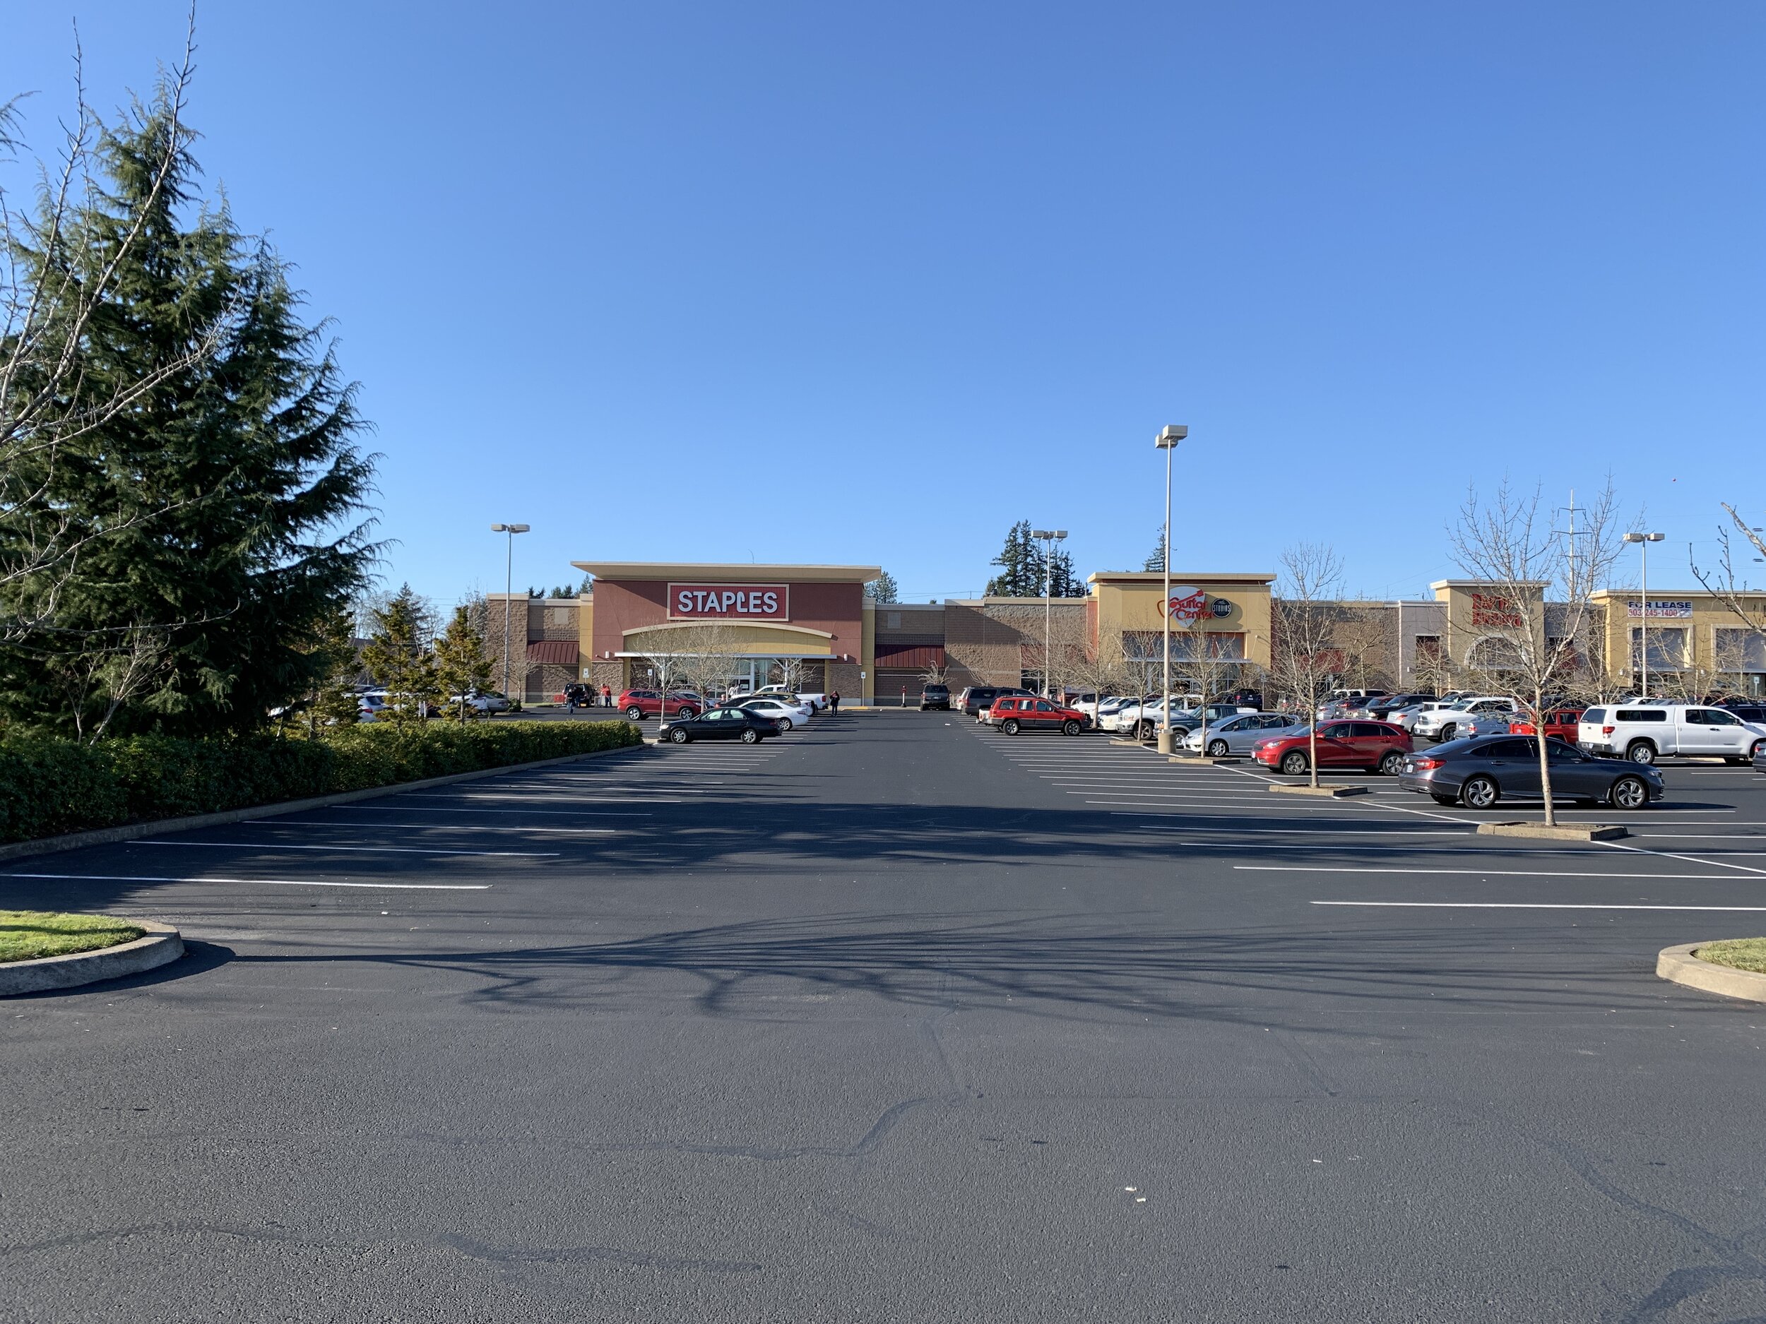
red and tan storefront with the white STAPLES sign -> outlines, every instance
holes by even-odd
[[[581,674],[595,685],[643,685],[653,658],[715,651],[731,681],[756,688],[789,674],[807,690],[865,692],[874,565],[572,565],[595,577],[577,618]]]

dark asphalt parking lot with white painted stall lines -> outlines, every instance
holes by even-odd
[[[1748,1320],[1766,777],[1618,844],[841,713],[12,861],[26,1320]],[[1519,817],[1499,807],[1482,817]],[[1570,810],[1614,821],[1612,810]]]

